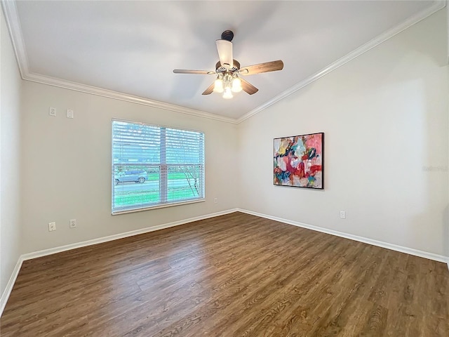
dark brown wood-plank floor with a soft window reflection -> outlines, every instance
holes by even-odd
[[[1,337],[449,336],[447,265],[243,213],[22,265]]]

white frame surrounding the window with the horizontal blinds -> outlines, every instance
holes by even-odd
[[[147,125],[147,126],[152,126],[152,127],[157,127],[157,128],[170,128],[172,130],[179,130],[179,131],[191,131],[191,132],[196,132],[196,133],[202,133],[203,134],[203,164],[202,164],[202,170],[200,170],[200,181],[202,182],[202,188],[201,188],[201,192],[198,198],[196,199],[189,199],[189,200],[182,200],[182,201],[173,201],[173,202],[164,202],[163,204],[158,203],[158,204],[154,204],[152,206],[150,206],[149,204],[146,204],[147,206],[139,206],[139,207],[135,207],[135,208],[124,208],[122,210],[119,209],[115,209],[114,210],[114,165],[117,165],[116,163],[114,164],[114,121],[118,121],[118,122],[122,122],[122,123],[129,123],[129,124],[140,124],[140,125]],[[119,215],[119,214],[125,214],[125,213],[134,213],[134,212],[140,212],[140,211],[148,211],[151,209],[163,209],[166,207],[172,207],[172,206],[180,206],[180,205],[186,205],[186,204],[196,204],[198,202],[203,202],[206,201],[206,133],[202,130],[198,130],[198,129],[192,129],[192,128],[180,128],[178,126],[166,126],[166,125],[161,125],[161,124],[150,124],[147,123],[145,121],[135,121],[135,120],[130,120],[130,119],[119,119],[119,118],[113,118],[111,120],[111,144],[110,144],[110,148],[111,148],[111,214],[113,216],[115,215]],[[161,150],[161,143],[159,143],[159,149]],[[165,147],[165,146],[164,146]],[[147,164],[148,165],[148,164]],[[162,182],[162,176],[163,176],[163,167],[164,170],[167,171],[168,166],[170,166],[171,164],[169,163],[154,163],[151,165],[156,165],[160,167],[160,173],[159,173],[159,195],[161,196],[161,185],[164,185],[165,187],[167,187],[168,185],[168,178],[165,179],[164,182]],[[200,164],[201,165],[201,164]],[[145,166],[145,164],[143,165]],[[167,177],[167,175],[164,175],[165,177]],[[167,190],[165,191],[165,195],[167,194]],[[202,196],[201,196],[202,194]]]

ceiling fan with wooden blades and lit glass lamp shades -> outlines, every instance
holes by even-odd
[[[241,75],[261,74],[262,72],[275,72],[283,69],[283,62],[276,60],[272,62],[258,63],[257,65],[248,65],[240,67],[240,63],[232,58],[232,39],[234,32],[225,30],[222,32],[222,39],[215,41],[220,60],[215,65],[214,70],[185,70],[175,69],[175,74],[201,74],[215,75],[216,79],[204,92],[203,95],[210,93],[223,93],[223,98],[232,98],[232,93],[245,91],[250,95],[257,93],[257,89],[245,79],[241,79]]]

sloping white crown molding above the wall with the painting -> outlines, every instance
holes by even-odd
[[[330,63],[330,65],[323,68],[319,72],[316,72],[315,74],[311,75],[310,77],[307,77],[307,79],[300,81],[299,83],[295,84],[294,86],[287,89],[286,91],[283,91],[279,95],[276,95],[271,100],[267,100],[267,102],[263,103],[259,107],[256,107],[255,109],[251,110],[250,112],[244,114],[242,117],[237,119],[237,123],[240,124],[242,121],[254,116],[255,114],[261,112],[262,110],[267,109],[267,107],[274,105],[275,103],[278,103],[280,100],[283,100],[288,95],[291,95],[292,93],[295,93],[296,91],[304,88],[304,86],[308,86],[312,82],[316,81],[317,79],[320,79],[321,77],[332,72],[333,70],[336,70],[338,67],[341,67],[342,65],[349,62],[350,60],[354,60],[354,58],[357,58],[358,56],[362,55],[363,53],[366,53],[367,51],[374,48],[375,46],[382,44],[382,42],[387,41],[388,39],[391,39],[391,37],[394,37],[396,34],[403,32],[408,27],[411,27],[411,26],[415,25],[417,22],[424,20],[425,18],[436,13],[437,11],[440,11],[441,9],[445,8],[445,6],[446,6],[445,0],[434,1],[434,4],[432,6],[424,9],[423,11],[420,11],[419,13],[416,13],[415,15],[411,16],[410,18],[408,18],[401,24],[397,25],[396,27],[388,30],[387,32],[384,32],[383,34],[380,34],[378,37],[375,37],[375,39],[372,39],[371,41],[368,41],[366,44],[363,44],[362,46],[356,48],[354,51],[351,51],[351,53],[348,53],[347,55],[344,55],[342,58],[336,60],[335,62]],[[449,56],[449,54],[448,54],[448,56]]]

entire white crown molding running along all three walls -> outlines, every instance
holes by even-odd
[[[320,79],[321,77],[328,74],[329,72],[332,72],[333,70],[337,69],[338,67],[341,67],[342,65],[346,64],[350,60],[354,60],[354,58],[357,58],[358,56],[362,55],[363,53],[366,53],[367,51],[374,48],[375,46],[382,44],[382,42],[387,41],[388,39],[391,39],[391,37],[394,37],[396,34],[403,32],[403,30],[407,29],[408,27],[411,27],[412,25],[415,25],[417,22],[420,22],[421,20],[424,20],[429,15],[432,15],[432,14],[436,13],[437,11],[440,11],[442,8],[445,8],[445,6],[446,6],[446,0],[434,1],[434,4],[432,4],[432,6],[425,8],[423,11],[413,15],[412,17],[408,18],[406,21],[402,22],[401,24],[397,25],[396,27],[390,29],[387,32],[384,32],[383,34],[380,34],[375,39],[368,41],[366,44],[363,44],[363,46],[360,46],[360,47],[356,48],[354,51],[351,51],[350,53],[348,53],[347,55],[344,55],[342,58],[331,63],[330,65],[323,68],[319,72],[316,72],[315,74],[311,75],[310,77],[307,77],[307,79],[300,81],[299,83],[295,84],[294,86],[287,89],[286,91],[283,91],[279,95],[276,95],[271,100],[267,100],[267,102],[263,103],[262,105],[256,107],[253,110],[250,110],[249,112],[244,114],[239,119],[234,119],[231,117],[224,117],[224,116],[220,116],[217,114],[212,114],[210,112],[204,112],[201,110],[190,109],[188,107],[181,107],[180,105],[163,103],[163,102],[159,102],[156,100],[149,100],[148,98],[142,98],[139,96],[127,95],[126,93],[119,93],[117,91],[111,91],[111,90],[107,90],[107,89],[98,88],[95,86],[88,86],[86,84],[79,84],[79,83],[75,83],[72,81],[66,81],[63,79],[57,79],[54,77],[44,76],[41,74],[30,73],[29,69],[28,69],[28,59],[27,59],[27,53],[26,53],[26,49],[25,49],[25,43],[24,43],[24,40],[22,37],[22,29],[20,28],[20,21],[18,18],[18,12],[17,12],[17,7],[15,5],[15,1],[8,1],[8,0],[0,0],[0,1],[1,1],[2,8],[4,9],[6,24],[8,25],[8,29],[11,34],[11,40],[13,42],[13,47],[14,47],[16,58],[18,60],[20,75],[22,76],[22,79],[24,79],[26,81],[34,81],[34,82],[41,83],[41,84],[47,84],[50,86],[66,88],[69,90],[81,91],[83,93],[90,93],[92,95],[99,95],[102,97],[113,98],[116,100],[123,100],[123,101],[130,102],[130,103],[147,105],[149,107],[156,107],[156,108],[159,108],[162,110],[170,110],[173,112],[180,112],[182,114],[189,114],[189,115],[196,116],[196,117],[213,119],[216,121],[224,121],[224,122],[231,123],[231,124],[240,124],[242,121],[245,121],[246,119],[254,116],[255,114],[261,112],[262,110],[267,109],[267,107],[270,107],[271,105],[274,105],[275,103],[279,102],[280,100],[283,100],[283,98],[286,98],[288,95],[291,95],[291,94],[295,93],[296,91],[299,91],[300,89],[304,88],[304,86],[308,86],[309,84],[316,81],[317,79]],[[449,57],[449,52],[448,52],[448,57]]]

